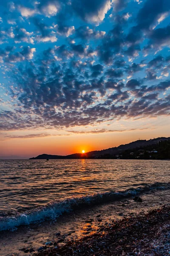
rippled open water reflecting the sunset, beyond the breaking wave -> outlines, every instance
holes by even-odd
[[[51,201],[170,182],[170,162],[156,160],[1,160],[0,212]]]

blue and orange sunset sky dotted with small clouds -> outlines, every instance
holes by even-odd
[[[170,137],[169,0],[1,0],[0,157]]]

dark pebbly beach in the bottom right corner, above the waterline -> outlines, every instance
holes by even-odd
[[[34,256],[170,255],[170,205],[101,225],[79,240],[49,241]]]

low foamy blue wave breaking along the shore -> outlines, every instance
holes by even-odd
[[[86,206],[93,206],[109,201],[129,198],[154,189],[170,189],[170,183],[155,183],[152,185],[138,187],[136,189],[126,189],[120,192],[111,191],[54,201],[47,204],[45,207],[38,207],[31,211],[13,216],[0,217],[0,231],[14,230],[21,225],[29,225],[31,223],[41,222],[47,219],[55,219],[59,217],[59,215],[71,212],[74,209],[81,209]]]

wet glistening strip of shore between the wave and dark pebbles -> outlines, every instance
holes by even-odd
[[[112,221],[139,213],[144,214],[148,210],[167,204],[170,202],[170,190],[151,191],[141,195],[141,197],[142,203],[133,201],[133,198],[127,198],[76,210],[60,216],[55,221],[19,227],[13,232],[1,232],[0,255],[6,256],[9,253],[16,256],[32,255],[49,241],[52,243],[50,247],[54,247],[55,243],[58,243],[59,246],[65,246],[68,241],[92,236],[101,228],[107,227]],[[29,252],[30,249],[34,251]]]

